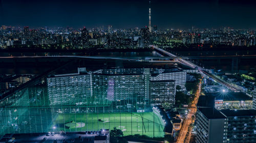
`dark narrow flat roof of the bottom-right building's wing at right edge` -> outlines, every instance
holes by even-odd
[[[234,116],[256,116],[256,110],[229,110],[223,109],[220,110],[226,117]]]

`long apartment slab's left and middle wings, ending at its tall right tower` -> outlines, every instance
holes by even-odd
[[[122,101],[123,104],[149,104],[150,69],[103,69],[90,73],[79,71],[48,77],[47,81],[51,105],[88,104],[90,98]],[[58,100],[60,96],[62,100]]]

